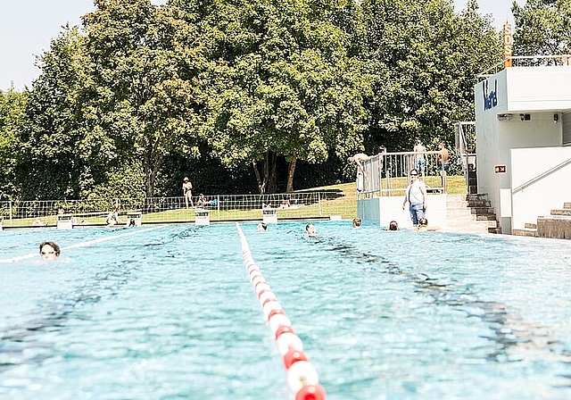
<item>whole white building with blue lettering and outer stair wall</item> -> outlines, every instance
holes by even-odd
[[[570,202],[571,66],[506,68],[474,96],[477,190],[488,194],[502,233]]]

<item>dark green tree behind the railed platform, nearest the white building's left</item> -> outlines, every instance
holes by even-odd
[[[491,21],[475,1],[460,15],[445,0],[366,0],[362,7],[363,59],[376,77],[367,99],[367,149],[406,151],[415,137],[450,143],[452,123],[473,118],[477,74],[500,59]]]

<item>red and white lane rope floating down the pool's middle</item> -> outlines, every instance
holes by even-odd
[[[253,261],[244,232],[237,222],[236,229],[242,242],[244,266],[248,270],[248,277],[260,301],[264,318],[276,338],[277,350],[284,359],[287,384],[294,392],[295,400],[326,400],[327,394],[319,384],[318,371],[303,351],[302,339],[295,333],[292,321],[287,318],[283,307],[277,301],[277,296],[271,291],[268,281],[264,279],[260,268]]]

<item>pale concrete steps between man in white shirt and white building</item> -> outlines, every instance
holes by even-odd
[[[501,233],[487,195],[447,195],[446,230],[461,233]]]

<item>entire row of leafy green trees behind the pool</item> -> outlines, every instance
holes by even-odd
[[[567,46],[569,1],[516,4],[522,46],[550,29]],[[459,14],[450,0],[95,6],[29,91],[0,96],[2,198],[180,196],[186,175],[196,193],[291,191],[295,171],[299,187],[350,180],[349,154],[453,147],[476,75],[501,59],[476,0]]]

